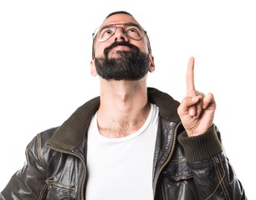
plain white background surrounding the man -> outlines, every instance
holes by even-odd
[[[126,10],[148,32],[156,72],[148,85],[181,101],[188,58],[197,90],[218,103],[215,123],[248,199],[255,198],[256,7],[252,1],[0,2],[0,191],[39,132],[99,94],[90,76],[91,33]]]

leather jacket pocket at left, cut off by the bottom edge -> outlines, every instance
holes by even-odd
[[[47,193],[46,198],[49,200],[74,200],[75,189],[73,187],[66,186],[61,183],[54,183],[53,181],[47,181]]]

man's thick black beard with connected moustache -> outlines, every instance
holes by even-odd
[[[131,51],[116,51],[115,57],[109,57],[110,50],[120,45],[130,47]],[[129,42],[114,42],[105,48],[104,57],[95,57],[96,71],[106,80],[140,80],[146,76],[149,64],[149,54]]]

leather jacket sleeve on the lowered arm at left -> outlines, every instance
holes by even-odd
[[[0,193],[1,200],[43,199],[46,170],[41,153],[41,138],[38,134],[26,148],[26,163],[23,168],[13,174]]]

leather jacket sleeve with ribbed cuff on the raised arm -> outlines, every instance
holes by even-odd
[[[197,137],[178,137],[194,174],[199,199],[247,199],[221,144],[215,125]]]

